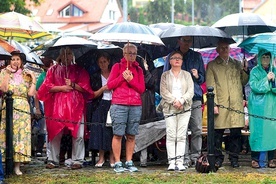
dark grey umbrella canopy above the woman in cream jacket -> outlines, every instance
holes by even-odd
[[[181,36],[193,37],[193,48],[215,47],[219,39],[225,39],[228,43],[235,41],[224,31],[209,26],[175,26],[161,33],[164,44],[172,49],[178,47],[177,40]]]

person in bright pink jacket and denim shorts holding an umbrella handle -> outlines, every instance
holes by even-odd
[[[115,158],[115,172],[136,172],[132,162],[135,135],[142,113],[141,94],[145,91],[142,68],[136,61],[137,47],[127,43],[123,48],[124,57],[111,70],[107,87],[112,90],[110,115],[113,127],[112,150]],[[120,161],[122,137],[126,135],[125,168]]]

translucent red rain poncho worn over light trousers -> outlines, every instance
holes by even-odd
[[[78,84],[84,92],[78,90],[50,92],[54,86],[65,85],[66,73],[67,78]],[[77,65],[54,65],[47,71],[45,81],[40,86],[37,95],[38,99],[44,102],[45,116],[49,117],[46,121],[49,141],[52,141],[64,127],[71,130],[72,136],[76,138],[80,124],[76,122],[82,120],[86,101],[94,97],[88,72]]]

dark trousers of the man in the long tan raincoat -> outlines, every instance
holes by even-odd
[[[241,128],[230,128],[230,135],[228,141],[228,154],[229,160],[238,161],[239,153],[241,149]],[[216,161],[221,163],[224,160],[224,155],[222,154],[222,141],[225,129],[215,129],[215,158]]]

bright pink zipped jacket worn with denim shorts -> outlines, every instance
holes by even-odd
[[[144,74],[138,62],[129,63],[129,70],[133,74],[133,79],[127,82],[123,78],[123,72],[126,70],[127,61],[121,59],[120,63],[116,63],[109,75],[107,87],[113,90],[112,104],[118,105],[142,105],[141,94],[145,91]]]

